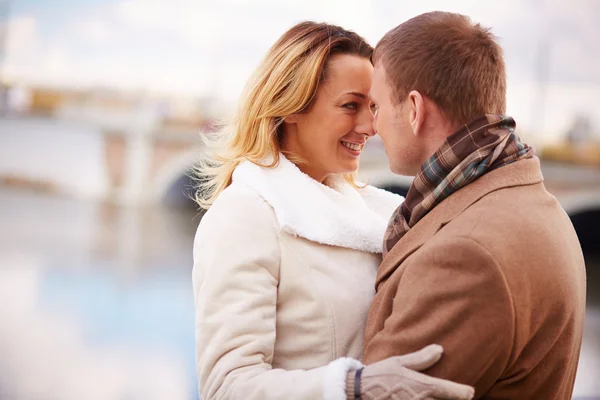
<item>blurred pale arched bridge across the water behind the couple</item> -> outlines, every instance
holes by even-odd
[[[193,203],[187,174],[202,153],[200,130],[132,122],[31,117],[0,119],[0,183],[38,187],[131,206]],[[545,184],[571,216],[586,248],[600,249],[600,169],[542,162]],[[381,141],[369,143],[361,179],[405,194],[411,178],[393,175]]]

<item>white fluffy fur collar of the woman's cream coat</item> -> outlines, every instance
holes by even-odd
[[[274,168],[241,163],[233,181],[255,190],[273,209],[281,229],[295,236],[381,253],[388,220],[403,197],[367,186],[356,190],[342,176],[323,185],[280,156]]]

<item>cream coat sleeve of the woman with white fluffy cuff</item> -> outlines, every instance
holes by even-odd
[[[272,367],[279,237],[257,195],[224,192],[194,241],[196,362],[203,399],[345,399],[341,358],[312,370]]]

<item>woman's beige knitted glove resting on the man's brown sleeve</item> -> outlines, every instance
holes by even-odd
[[[433,344],[415,353],[390,357],[366,366],[360,379],[362,400],[470,400],[475,390],[444,379],[433,378],[423,371],[442,357],[442,346]],[[348,372],[346,393],[355,400],[356,371]]]

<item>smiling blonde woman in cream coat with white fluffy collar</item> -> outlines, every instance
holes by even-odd
[[[371,52],[340,27],[294,26],[199,167],[205,399],[343,399],[346,373],[361,367],[383,235],[402,201],[353,178],[375,134]]]

